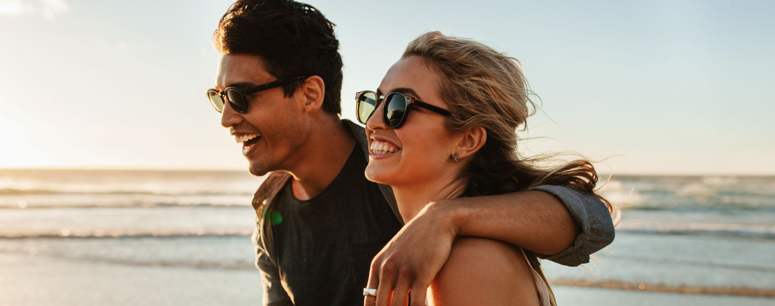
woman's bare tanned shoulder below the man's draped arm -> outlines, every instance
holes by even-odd
[[[429,288],[431,304],[538,304],[522,251],[492,239],[455,240],[449,259]]]

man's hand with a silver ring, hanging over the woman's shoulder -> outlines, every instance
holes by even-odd
[[[459,232],[445,205],[426,205],[387,242],[371,261],[368,288],[377,297],[365,297],[366,306],[404,306],[412,291],[412,306],[425,306],[425,294],[452,249]]]

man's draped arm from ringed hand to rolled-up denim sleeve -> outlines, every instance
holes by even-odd
[[[367,287],[378,287],[379,297],[367,297],[365,304],[391,305],[396,297],[393,304],[399,305],[408,288],[429,286],[460,236],[498,239],[537,254],[560,253],[549,260],[566,265],[585,263],[611,243],[614,227],[605,204],[572,188],[543,187],[553,187],[552,193],[522,191],[425,206],[374,257]],[[412,295],[424,298],[424,291]],[[421,303],[412,301],[412,306]]]

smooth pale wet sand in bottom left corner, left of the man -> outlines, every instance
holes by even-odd
[[[0,253],[0,305],[257,305],[257,270]]]

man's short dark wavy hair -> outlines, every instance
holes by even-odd
[[[338,115],[342,92],[342,57],[334,24],[305,3],[288,0],[235,2],[213,33],[220,53],[255,54],[277,78],[317,75],[325,83],[322,108]],[[298,83],[284,86],[286,97]]]

